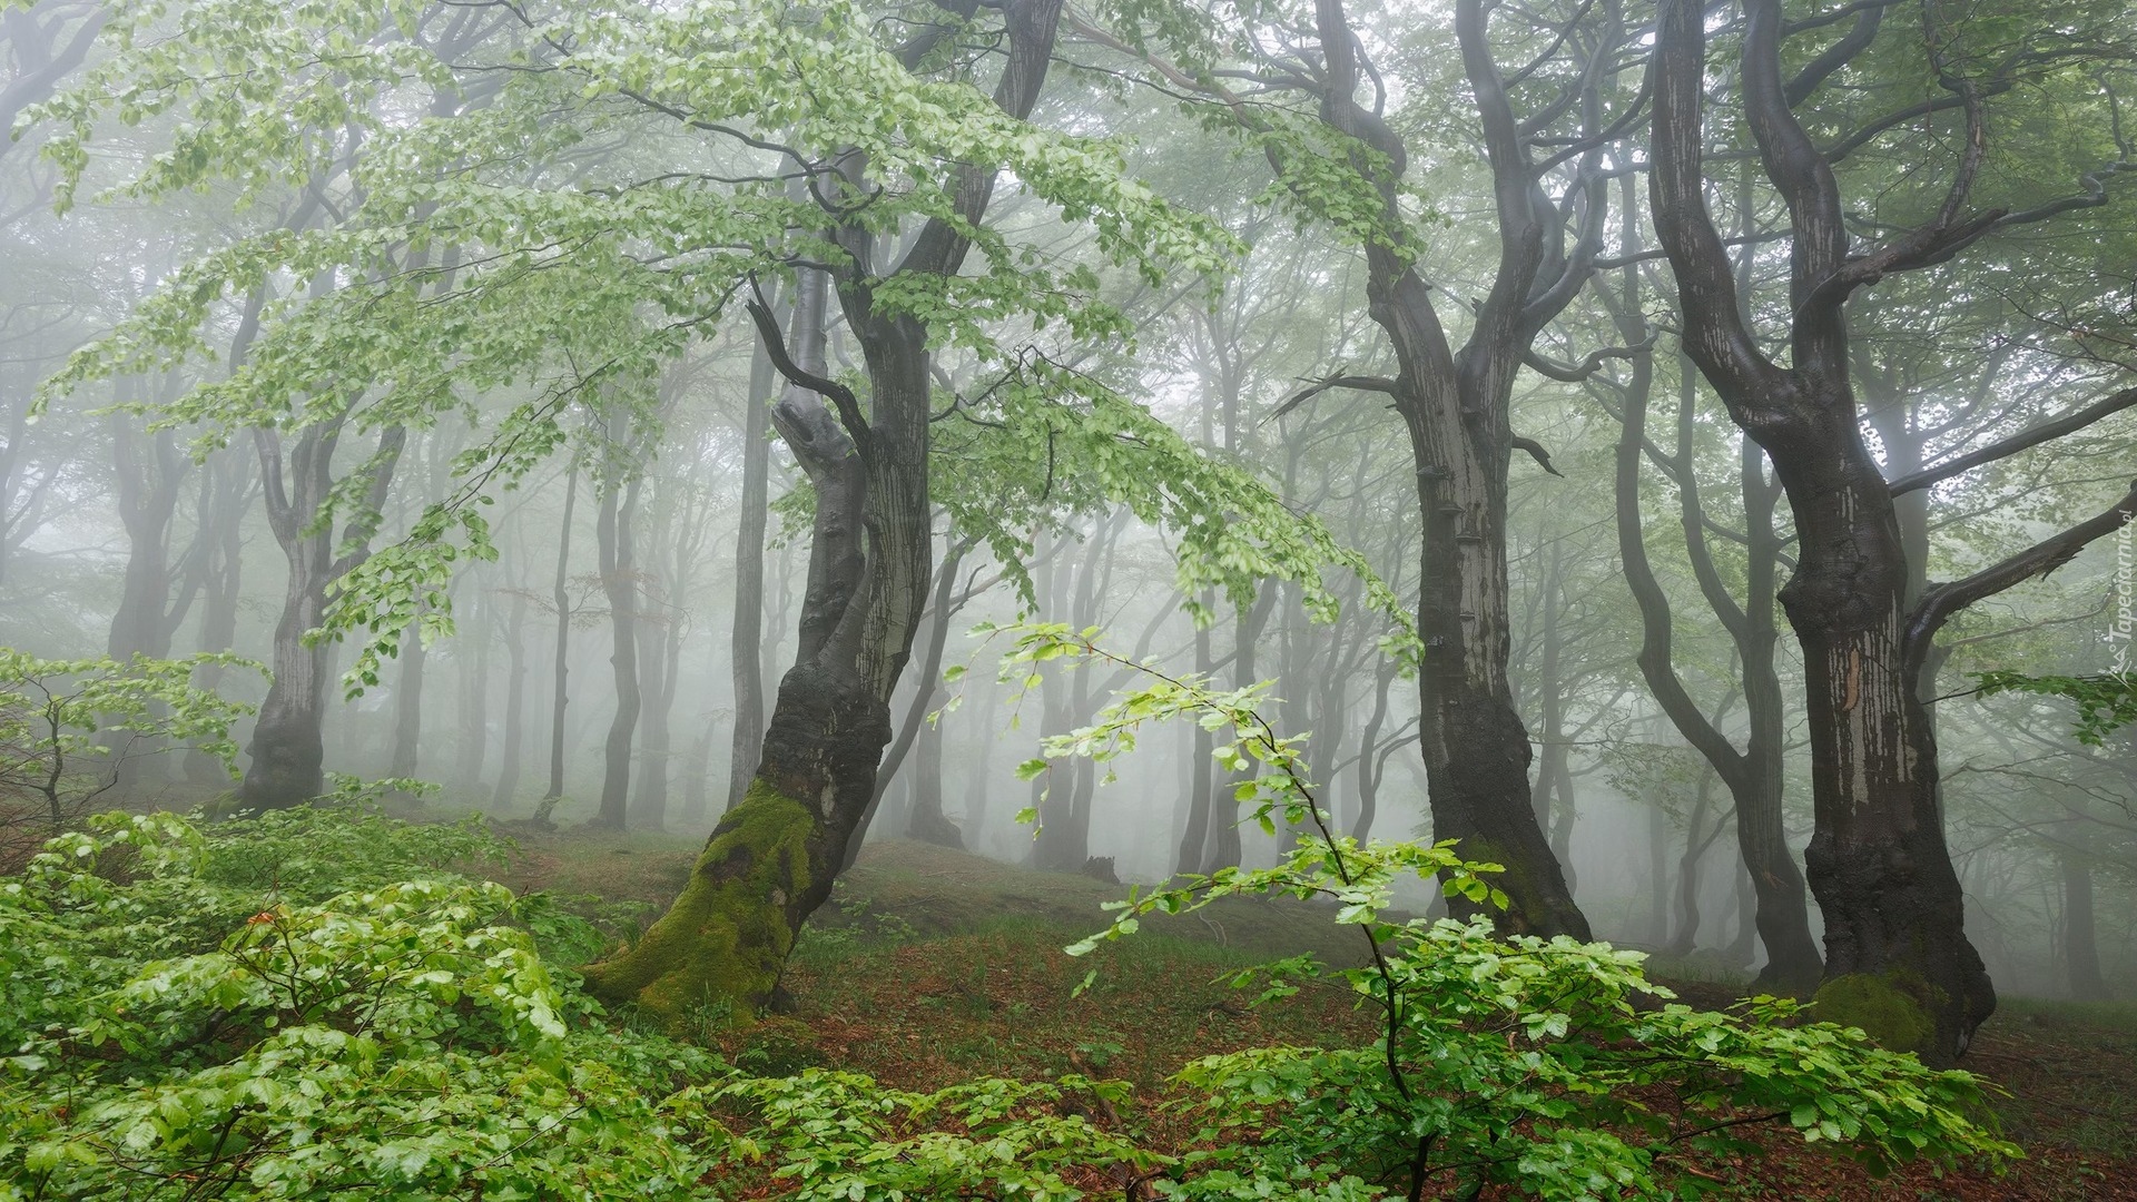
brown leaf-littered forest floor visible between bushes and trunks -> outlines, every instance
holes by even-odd
[[[699,847],[682,836],[541,836],[498,879],[513,888],[594,894],[654,913]],[[840,879],[810,922],[786,977],[791,1014],[748,1031],[707,1029],[737,1065],[791,1074],[836,1065],[900,1089],[972,1076],[1051,1078],[1068,1072],[1135,1084],[1148,1108],[1171,1093],[1188,1059],[1259,1044],[1370,1037],[1346,988],[1269,1005],[1231,977],[1304,950],[1355,954],[1329,913],[1301,903],[1231,898],[1201,915],[1145,922],[1133,939],[1068,958],[1096,930],[1120,885],[1032,873],[919,843],[883,843]],[[1075,995],[1086,973],[1096,980]],[[1658,980],[1695,1005],[1733,990]],[[1703,1166],[1735,1196],[1878,1202],[2137,1202],[2137,1005],[2007,999],[1966,1057],[2002,1093],[2005,1134],[2026,1159],[2002,1174],[1902,1170],[1870,1178],[1853,1161],[1769,1131],[1763,1157]]]

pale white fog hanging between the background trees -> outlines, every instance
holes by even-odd
[[[85,26],[103,19],[94,9],[43,0],[9,11],[4,111],[66,96],[81,62],[105,60],[107,51],[73,53]],[[464,43],[440,49],[442,60],[492,53],[483,21],[425,19],[423,38]],[[1393,60],[1402,49],[1376,43],[1376,53]],[[1395,101],[1436,94],[1440,66],[1408,62],[1400,73]],[[415,130],[419,113],[451,122],[519,105],[517,120],[528,109],[511,90],[474,86],[479,75],[464,73],[457,90],[419,81],[380,90],[370,98],[370,137]],[[1261,712],[1284,736],[1310,736],[1308,779],[1333,828],[1359,838],[1464,836],[1445,828],[1447,815],[1434,830],[1419,744],[1436,721],[1423,712],[1419,663],[1430,676],[1449,648],[1417,629],[1421,659],[1391,652],[1402,622],[1374,607],[1359,569],[1413,618],[1419,605],[1440,605],[1449,622],[1468,622],[1462,629],[1494,627],[1489,612],[1475,612],[1479,597],[1492,603],[1489,571],[1438,601],[1421,597],[1419,580],[1438,580],[1472,543],[1498,539],[1504,625],[1460,654],[1504,657],[1504,706],[1522,725],[1511,746],[1528,749],[1513,764],[1530,789],[1534,817],[1524,821],[1562,866],[1592,935],[1688,973],[1765,967],[1735,800],[1705,751],[1718,742],[1731,755],[1759,746],[1769,757],[1784,845],[1801,864],[1814,834],[1810,697],[1825,684],[1806,678],[1789,614],[1774,601],[1801,567],[1793,509],[1759,445],[1680,355],[1675,284],[1639,216],[1643,186],[1588,222],[1569,199],[1590,186],[1586,175],[1575,182],[1566,165],[1539,178],[1564,227],[1551,237],[1569,240],[1545,255],[1547,265],[1564,267],[1573,240],[1592,237],[1575,255],[1588,261],[1590,291],[1562,304],[1532,349],[1513,357],[1502,515],[1494,503],[1477,511],[1447,503],[1466,513],[1453,522],[1460,530],[1449,526],[1449,541],[1425,548],[1440,511],[1423,507],[1440,500],[1421,500],[1428,468],[1415,447],[1428,443],[1413,447],[1413,436],[1425,434],[1406,428],[1391,394],[1389,381],[1410,368],[1376,325],[1393,304],[1370,295],[1381,267],[1325,222],[1257,201],[1272,186],[1259,152],[1242,154],[1195,122],[1169,120],[1148,96],[1092,79],[1049,86],[1032,120],[1120,137],[1128,169],[1156,195],[1237,244],[1220,265],[1148,278],[1092,227],[1064,218],[1054,184],[1011,173],[996,186],[987,225],[1004,246],[1028,250],[1032,272],[1088,272],[1062,287],[1103,297],[1118,327],[1079,329],[1077,314],[1039,302],[1002,314],[1013,306],[974,291],[955,304],[970,306],[996,342],[974,351],[977,334],[962,332],[934,342],[921,398],[930,475],[915,494],[930,505],[915,560],[925,575],[906,599],[910,631],[885,635],[898,663],[889,738],[880,757],[872,753],[883,779],[865,841],[945,843],[1124,883],[1272,864],[1289,847],[1289,832],[1280,841],[1237,821],[1235,791],[1250,776],[1212,757],[1235,736],[1192,721],[1141,729],[1139,746],[1118,759],[1019,774],[1045,736],[1092,725],[1122,689],[1150,680],[1066,659],[1041,665],[1039,682],[1026,680],[1026,665],[1002,680],[998,659],[1019,622],[1094,629],[1116,654],[1218,691],[1267,682]],[[1613,88],[1631,94],[1637,73]],[[767,205],[797,192],[793,203],[812,203],[778,152],[720,137],[699,145],[650,113],[596,113],[556,145],[543,145],[539,128],[513,126],[498,137],[517,141],[500,154],[524,160],[502,165],[500,178],[517,173],[530,190],[622,195],[673,163],[703,180],[759,178],[748,195]],[[836,637],[810,625],[821,618],[810,601],[812,545],[831,537],[833,503],[825,468],[797,458],[795,445],[810,436],[804,417],[836,417],[831,394],[810,391],[808,381],[842,381],[874,421],[889,421],[891,402],[870,391],[870,372],[878,387],[887,379],[887,353],[874,334],[857,334],[851,291],[825,304],[825,284],[810,282],[829,246],[821,231],[769,218],[791,227],[797,250],[737,259],[718,280],[705,263],[727,250],[662,248],[658,233],[633,233],[615,255],[639,263],[639,284],[658,287],[648,280],[665,257],[695,255],[692,269],[703,272],[675,295],[639,302],[641,310],[673,317],[690,289],[714,299],[688,325],[654,317],[645,319],[654,334],[613,334],[618,359],[630,364],[603,376],[583,355],[609,338],[594,323],[615,312],[592,302],[573,310],[568,295],[528,297],[530,312],[549,312],[558,327],[526,344],[504,344],[502,334],[498,346],[485,342],[532,319],[502,302],[485,312],[474,293],[549,287],[485,276],[494,269],[485,252],[571,261],[528,250],[571,237],[530,233],[534,216],[498,218],[487,233],[380,240],[340,261],[263,261],[252,289],[239,287],[241,274],[203,284],[209,276],[188,274],[190,263],[239,240],[263,246],[256,235],[278,227],[353,229],[350,214],[370,203],[365,188],[391,182],[346,175],[350,158],[323,145],[274,150],[284,160],[261,180],[222,163],[171,186],[130,188],[175,137],[197,133],[194,118],[152,111],[120,122],[96,109],[83,115],[88,141],[51,141],[64,133],[60,109],[32,118],[0,148],[0,644],[53,661],[233,652],[244,663],[203,663],[192,682],[267,706],[261,714],[284,725],[310,721],[325,789],[344,776],[387,781],[378,796],[395,813],[479,811],[528,830],[592,823],[701,838],[744,802],[767,721],[791,702],[780,682],[797,650]],[[1419,214],[1430,291],[1460,342],[1489,310],[1500,269],[1489,165],[1464,133],[1428,124],[1413,133],[1408,169],[1430,199],[1406,197],[1402,207]],[[88,148],[79,180],[53,145]],[[1631,152],[1611,163],[1628,165]],[[1891,156],[1878,163],[1861,171],[1900,171]],[[1596,188],[1584,205],[1603,205],[1618,182]],[[1733,180],[1710,188],[1722,220],[1772,229],[1776,197],[1744,184],[1740,201],[1735,190]],[[73,199],[64,212],[62,199]],[[2116,199],[2073,210],[2066,229],[2126,246],[2128,218]],[[921,210],[887,218],[876,229],[885,261],[895,259],[891,248],[923,255],[925,222]],[[513,242],[519,235],[528,246]],[[1596,248],[1603,265],[1592,263]],[[1729,269],[1748,284],[1746,312],[1757,310],[1778,340],[1787,246],[1746,235],[1731,255]],[[987,244],[964,278],[1009,259]],[[1896,278],[1851,308],[1859,436],[1891,479],[1996,449],[2126,383],[2111,353],[2073,353],[2069,329],[2096,293],[2086,250],[2022,231],[1977,259]],[[605,269],[575,265],[579,274],[558,287],[598,289]],[[419,282],[397,293],[380,284],[370,310],[346,299],[410,278]],[[194,287],[205,289],[194,308],[152,304]],[[434,327],[432,302],[438,312],[462,308]],[[325,338],[325,325],[299,327],[299,314],[336,304],[350,306],[346,344]],[[378,317],[391,304],[406,304],[406,314]],[[767,336],[782,340],[778,364]],[[415,353],[400,340],[444,344]],[[1607,351],[1590,359],[1598,349]],[[395,359],[404,351],[406,361]],[[321,359],[338,353],[346,359]],[[528,372],[511,370],[515,355]],[[1519,368],[1524,355],[1530,368]],[[1588,368],[1575,370],[1584,359]],[[451,364],[451,374],[425,379],[432,361]],[[1047,370],[1056,374],[1032,374]],[[291,379],[318,391],[278,391]],[[1197,486],[1205,492],[1195,503],[1160,500],[1167,488],[1165,496],[1192,492],[1167,481],[1145,481],[1154,492],[1137,494],[1133,477],[1156,466],[1105,466],[1077,443],[1068,417],[1000,411],[1017,389],[1034,394],[1030,404],[1075,402],[1039,396],[1083,387],[1075,381],[1128,398],[1231,473],[1222,479],[1257,481],[1272,511],[1316,522],[1359,558],[1276,545],[1259,526],[1218,545],[1210,528],[1233,522],[1229,511],[1195,511],[1216,483]],[[333,389],[355,400],[329,415],[314,402]],[[1645,426],[1626,434],[1635,406]],[[1152,445],[1133,432],[1120,438],[1130,449]],[[2120,494],[2128,451],[2126,417],[2103,415],[2054,447],[2005,449],[1900,494],[1893,528],[1913,556],[1908,595],[2079,524]],[[457,526],[464,513],[481,515],[479,539]],[[898,543],[874,509],[833,535],[868,550],[865,571],[898,558],[883,550]],[[1643,565],[1628,567],[1626,539],[1643,548]],[[2137,995],[2131,729],[2086,744],[2060,697],[1977,693],[1983,672],[2084,678],[2120,665],[2131,637],[2128,539],[2128,528],[2101,528],[2066,563],[2047,565],[2045,580],[2028,571],[1983,592],[1943,625],[1919,676],[1921,697],[1934,702],[1925,712],[1943,781],[1936,806],[1966,939],[2005,995]],[[438,558],[436,548],[457,550]],[[1301,577],[1308,569],[1319,575]],[[818,556],[814,571],[818,592],[851,586],[840,584],[838,560]],[[874,588],[891,588],[883,580]],[[968,633],[983,622],[998,631]],[[325,637],[308,639],[318,627]],[[1658,699],[1652,672],[1641,672],[1643,642],[1648,667],[1673,676],[1682,704]],[[1772,663],[1748,669],[1746,648]],[[957,665],[966,669],[945,680]],[[316,680],[293,680],[297,667]],[[269,697],[278,669],[288,695]],[[1844,699],[1872,689],[1846,680]],[[316,714],[310,699],[291,702],[301,689],[316,697]],[[1686,712],[1705,723],[1705,742],[1673,721]],[[227,813],[271,798],[276,772],[306,772],[263,761],[271,753],[252,716],[231,738],[250,751],[235,759],[237,779],[188,753],[186,740],[107,740],[107,759],[85,761],[92,776],[115,781],[96,791],[96,806]],[[1507,761],[1504,744],[1455,738],[1455,768]],[[1021,811],[1036,811],[1036,821],[1019,821]],[[1808,922],[1823,941],[1816,894],[1814,879]],[[1402,903],[1445,907],[1423,883],[1406,885]]]

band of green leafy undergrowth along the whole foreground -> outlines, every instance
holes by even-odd
[[[1118,911],[1111,937],[1137,911],[1333,890],[1353,900],[1323,920],[1381,947],[1357,969],[1233,954],[1220,971],[1259,986],[1242,1005],[1329,971],[1385,1024],[1195,1057],[1148,1110],[1105,1039],[1056,1076],[902,1089],[812,1063],[793,1018],[650,1031],[573,971],[622,911],[481,875],[509,856],[481,819],[363,802],[109,813],[49,841],[0,885],[0,1196],[1616,1198],[1720,1189],[1701,1166],[1759,1125],[1876,1168],[2017,1153],[1972,1076],[1787,1003],[1693,1010],[1633,952],[1378,915],[1395,875],[1451,866],[1434,847],[1308,843]],[[823,935],[840,960],[915,930],[844,918]]]

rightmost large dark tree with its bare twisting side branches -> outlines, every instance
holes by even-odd
[[[1789,34],[1831,21],[1791,28],[1780,0],[1748,0],[1744,11],[1733,103],[1789,214],[1787,364],[1769,357],[1754,336],[1707,210],[1707,17],[1686,0],[1665,0],[1660,13],[1652,216],[1678,280],[1684,349],[1774,462],[1795,518],[1799,554],[1778,599],[1804,650],[1814,800],[1806,864],[1825,915],[1821,997],[1834,1012],[1849,1005],[1913,1012],[1919,1048],[1949,1059],[1966,1050],[1994,1010],[1996,990],[1962,924],[1960,879],[1938,804],[1936,736],[1919,674],[1955,612],[2069,560],[2120,526],[2120,515],[2109,509],[1910,599],[1893,492],[1949,479],[1970,464],[1962,456],[1887,481],[1861,432],[1844,304],[1885,276],[1934,267],[1998,225],[2056,207],[2056,201],[2022,212],[1972,207],[1987,154],[1985,96],[2007,90],[2011,64],[2032,56],[2007,56],[1996,66],[1964,38],[1953,41],[1955,30],[1932,6],[1919,49],[1943,94],[1821,143],[1797,107],[1876,41],[1885,6],[1859,11],[1840,38],[1793,73],[1784,68]],[[1893,210],[1913,203],[1910,222],[1855,248],[1836,158],[1896,124],[1936,113],[1957,118],[1953,133],[1962,148],[1943,197],[1887,199]],[[2124,505],[2137,505],[2137,494]]]

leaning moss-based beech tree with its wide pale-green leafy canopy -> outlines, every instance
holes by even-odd
[[[167,11],[184,32],[145,36]],[[650,415],[660,368],[742,310],[786,381],[771,421],[812,486],[795,665],[750,789],[675,907],[588,969],[605,997],[671,1018],[707,995],[761,1005],[829,894],[874,796],[889,697],[932,575],[938,406],[987,432],[985,462],[942,492],[998,560],[1024,552],[1032,513],[1071,500],[1056,496],[1060,479],[1173,528],[1188,595],[1244,601],[1257,580],[1293,575],[1301,603],[1327,618],[1323,565],[1370,577],[1248,473],[1203,460],[1058,357],[1062,342],[1130,334],[1098,297],[1098,265],[1145,282],[1192,278],[1229,244],[1128,178],[1113,145],[1026,120],[1056,58],[1056,0],[891,13],[194,0],[115,4],[111,19],[122,49],[47,107],[66,122],[53,141],[62,197],[90,171],[113,105],[122,120],[184,118],[173,150],[122,184],[130,192],[229,180],[265,197],[308,188],[344,156],[350,186],[312,225],[175,272],[60,387],[182,359],[224,297],[312,280],[263,304],[261,336],[227,381],[167,406],[209,438],[259,428],[331,447],[344,430],[378,432],[361,483],[303,477],[310,509],[293,500],[282,522],[303,565],[331,550],[331,513],[355,522],[359,537],[342,545],[374,530],[395,432],[444,415],[477,426],[447,496],[400,539],[333,563],[331,603],[286,622],[314,657],[357,635],[348,687],[374,682],[410,627],[451,631],[453,565],[496,554],[483,503],[562,445],[575,409],[600,421]],[[470,19],[489,34],[474,38]],[[628,135],[633,152],[590,145],[596,135]],[[989,229],[1004,169],[1083,222],[1092,246],[1054,255]],[[793,289],[784,327],[771,280]],[[861,351],[855,374],[827,368],[833,295]],[[968,359],[983,383],[940,396],[942,355]],[[489,398],[509,409],[479,404]],[[1366,605],[1398,610],[1370,586]],[[286,793],[316,791],[299,779],[310,768],[316,759],[267,766]]]

